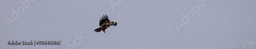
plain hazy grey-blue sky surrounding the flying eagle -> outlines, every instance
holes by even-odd
[[[76,49],[243,49],[245,39],[256,42],[255,0],[205,0],[180,32],[174,22],[181,23],[181,14],[199,0],[124,0],[114,10],[111,0],[37,0],[8,28],[4,17],[11,18],[19,1],[24,0],[0,1],[0,49],[68,49],[80,33],[87,38]],[[104,14],[118,24],[95,33]],[[61,45],[7,45],[31,40],[61,40]]]

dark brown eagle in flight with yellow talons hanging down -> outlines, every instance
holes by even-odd
[[[113,22],[109,20],[108,15],[103,15],[101,16],[101,19],[99,20],[99,28],[95,29],[95,32],[100,32],[101,30],[104,31],[104,33],[106,33],[106,28],[109,28],[110,26],[116,26],[117,22]]]

